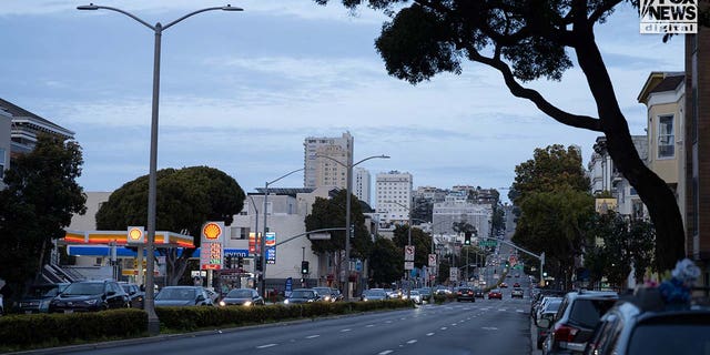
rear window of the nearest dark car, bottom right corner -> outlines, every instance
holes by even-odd
[[[710,324],[639,325],[627,354],[710,354]]]

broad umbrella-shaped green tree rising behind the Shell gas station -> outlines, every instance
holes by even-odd
[[[200,229],[207,221],[232,224],[244,207],[245,194],[239,183],[224,172],[207,166],[163,169],[156,172],[155,230],[183,232],[200,246]],[[99,230],[125,230],[129,225],[146,225],[148,179],[140,176],[114,191],[97,213]],[[168,262],[168,283],[174,285],[187,267],[194,248],[161,250]]]

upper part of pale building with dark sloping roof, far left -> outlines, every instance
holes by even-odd
[[[37,143],[37,135],[40,132],[51,133],[64,140],[74,138],[74,132],[2,99],[0,99],[0,111],[4,111],[12,116],[12,126],[10,129],[11,156],[32,151]]]

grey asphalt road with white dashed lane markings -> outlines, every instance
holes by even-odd
[[[527,295],[526,295],[527,296]],[[63,354],[530,354],[529,298],[423,305]],[[57,352],[54,352],[57,353]]]

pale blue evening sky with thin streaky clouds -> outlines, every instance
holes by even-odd
[[[158,169],[207,165],[246,192],[303,168],[307,136],[354,136],[354,161],[413,175],[414,187],[508,187],[536,148],[579,145],[585,165],[598,133],[562,125],[514,98],[498,72],[465,63],[412,85],[389,77],[374,48],[379,12],[339,1],[231,1],[162,33]],[[71,0],[2,0],[0,98],[75,132],[84,191],[113,191],[149,172],[154,32],[114,11]],[[95,2],[150,24],[226,2]],[[629,121],[645,134],[637,97],[651,71],[682,71],[682,38],[639,34],[623,3],[597,28],[598,45]],[[596,116],[581,71],[537,81],[564,110]],[[303,186],[296,173],[272,186]],[[505,197],[506,190],[500,190]],[[505,199],[504,199],[505,200]]]

